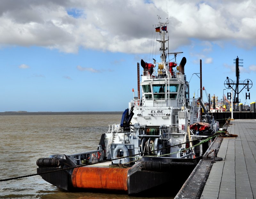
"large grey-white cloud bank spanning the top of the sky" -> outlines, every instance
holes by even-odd
[[[256,2],[199,0],[2,0],[0,45],[43,46],[67,53],[79,47],[124,53],[148,53],[156,15],[169,15],[170,50],[191,38],[256,45]],[[173,12],[173,10],[175,12]],[[211,51],[206,45],[204,52]]]

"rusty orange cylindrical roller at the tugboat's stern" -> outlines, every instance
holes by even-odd
[[[79,167],[72,173],[74,188],[127,191],[129,168]]]

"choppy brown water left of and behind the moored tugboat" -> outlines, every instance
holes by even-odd
[[[121,116],[118,112],[0,113],[0,179],[36,173],[36,160],[41,157],[96,150],[101,134],[108,131],[108,125],[119,124]],[[32,176],[0,182],[0,198],[139,197],[70,193],[52,186],[40,176]]]

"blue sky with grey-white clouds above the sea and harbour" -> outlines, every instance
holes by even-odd
[[[200,59],[206,92],[227,95],[238,56],[240,81],[253,83],[239,99],[255,102],[254,0],[0,0],[0,112],[124,111],[137,62],[160,61],[157,16],[169,21],[169,52],[187,58],[190,97],[200,96]]]

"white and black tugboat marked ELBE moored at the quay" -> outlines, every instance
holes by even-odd
[[[210,146],[206,138],[218,130],[218,122],[202,118],[203,102],[189,98],[186,58],[178,65],[182,52],[167,52],[167,25],[158,18],[160,62],[141,59],[142,98],[131,100],[120,124],[109,125],[97,150],[38,159],[37,173],[44,180],[65,191],[134,195],[180,189]],[[166,61],[168,54],[173,62]]]

